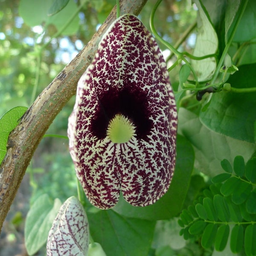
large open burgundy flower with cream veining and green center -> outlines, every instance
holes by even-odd
[[[120,191],[154,204],[175,168],[177,110],[163,55],[134,15],[119,17],[78,83],[70,154],[89,201],[108,209]]]

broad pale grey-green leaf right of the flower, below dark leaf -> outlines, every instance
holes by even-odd
[[[215,94],[219,93],[213,93],[212,97],[215,97]],[[222,102],[218,104],[222,104]],[[246,109],[246,111],[250,111],[250,109]],[[218,115],[218,112],[214,115]],[[236,116],[233,118],[240,122]],[[256,151],[254,142],[248,143],[218,134],[208,129],[200,122],[195,113],[185,108],[179,109],[178,119],[179,132],[189,140],[195,150],[195,168],[209,177],[222,173],[220,162],[224,158],[233,163],[237,155],[242,155],[244,159],[250,159]]]

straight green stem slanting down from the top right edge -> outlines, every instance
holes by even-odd
[[[233,30],[232,30],[232,32],[231,32],[231,34],[230,34],[230,37],[229,37],[229,39],[228,39],[228,41],[227,41],[227,44],[226,44],[226,46],[225,46],[225,48],[224,48],[224,50],[223,50],[223,52],[222,52],[222,55],[221,55],[221,58],[220,58],[220,60],[219,60],[219,62],[218,62],[218,65],[217,65],[217,67],[216,67],[215,73],[214,73],[213,76],[212,76],[211,83],[214,83],[215,80],[216,80],[217,77],[218,77],[219,70],[221,69],[221,66],[222,66],[222,64],[223,64],[223,62],[224,62],[224,59],[225,59],[225,57],[226,57],[226,55],[227,55],[227,52],[228,52],[228,50],[229,50],[229,48],[230,48],[230,45],[231,45],[232,40],[233,40],[233,38],[234,38],[234,36],[235,36],[235,33],[236,33],[237,28],[238,28],[238,25],[239,25],[239,22],[240,22],[240,20],[241,20],[241,17],[242,17],[243,14],[244,14],[244,10],[245,10],[245,8],[246,8],[246,6],[247,6],[247,3],[248,3],[248,0],[241,1],[241,6],[240,6],[241,12],[239,13],[239,17],[238,17],[238,19],[236,20],[235,26],[233,27]]]

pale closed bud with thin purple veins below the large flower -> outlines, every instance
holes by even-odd
[[[79,200],[72,196],[59,209],[47,239],[47,256],[84,256],[89,247],[89,224]]]

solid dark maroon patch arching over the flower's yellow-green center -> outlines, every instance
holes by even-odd
[[[129,87],[120,91],[109,88],[102,96],[97,97],[98,111],[92,122],[92,133],[97,138],[104,139],[111,119],[122,114],[133,122],[137,139],[147,140],[152,121],[149,119],[146,95],[139,90],[132,90],[132,84]]]

